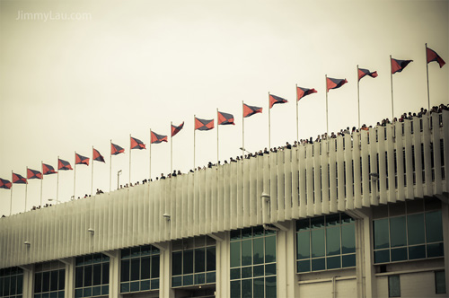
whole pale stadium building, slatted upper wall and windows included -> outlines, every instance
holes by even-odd
[[[447,297],[449,111],[0,220],[1,297]]]

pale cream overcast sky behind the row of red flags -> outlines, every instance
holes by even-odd
[[[449,63],[448,1],[4,1],[0,0],[0,178],[26,177],[57,156],[75,167],[75,151],[95,162],[93,191],[149,176],[150,128],[173,137],[173,169],[193,168],[193,117],[233,114],[219,127],[220,160],[240,155],[242,101],[263,108],[245,118],[245,147],[268,146],[268,92],[288,100],[271,110],[271,145],[296,137],[295,84],[318,93],[299,102],[299,137],[326,131],[325,74],[348,79],[329,92],[330,131],[357,126],[357,65],[377,71],[360,82],[361,122],[392,117],[390,55],[412,59],[393,75],[394,116],[427,108],[425,43]],[[58,20],[63,16],[71,20]],[[45,19],[47,18],[47,19]],[[429,64],[432,105],[449,103],[449,65]],[[170,137],[169,137],[170,139]],[[196,165],[216,162],[216,128],[196,133]],[[170,171],[170,143],[152,145],[152,178]],[[92,165],[92,160],[91,160]],[[75,197],[91,193],[92,167],[76,166]],[[44,176],[43,203],[57,197],[57,175]],[[27,210],[40,204],[29,180]],[[74,171],[59,174],[59,200],[74,195]],[[0,215],[11,190],[0,189]],[[13,214],[25,186],[13,185]]]

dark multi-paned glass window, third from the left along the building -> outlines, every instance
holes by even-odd
[[[109,290],[109,268],[109,257],[101,253],[77,257],[75,260],[75,297],[101,296],[101,285]],[[121,276],[129,278],[129,260],[121,262]]]

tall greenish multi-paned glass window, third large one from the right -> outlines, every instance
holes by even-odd
[[[276,297],[276,232],[262,226],[231,232],[230,250],[231,297]]]

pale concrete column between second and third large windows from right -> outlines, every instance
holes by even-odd
[[[295,225],[283,223],[276,233],[277,297],[298,297],[295,293]],[[279,225],[277,225],[279,227]]]

